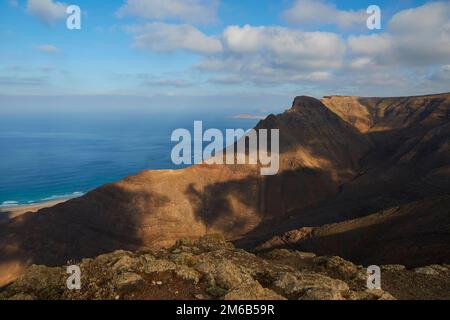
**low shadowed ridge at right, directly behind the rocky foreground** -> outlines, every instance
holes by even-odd
[[[397,208],[386,219],[373,215],[365,218],[363,224],[355,220],[332,225],[328,229],[319,227],[298,242],[274,245],[270,250],[287,248],[318,255],[337,255],[365,266],[448,264],[449,210],[448,196],[427,198]]]

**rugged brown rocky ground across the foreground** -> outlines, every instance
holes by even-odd
[[[255,255],[219,236],[78,265],[81,290],[67,289],[66,267],[33,265],[0,289],[0,299],[450,299],[449,265],[382,266],[383,290],[368,290],[366,269],[339,257],[285,249]]]

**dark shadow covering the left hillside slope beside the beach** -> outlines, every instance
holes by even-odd
[[[25,214],[0,225],[0,265],[64,265],[117,249],[142,246],[137,231],[141,216],[130,203],[162,205],[165,196],[127,192],[114,184],[87,195]]]

